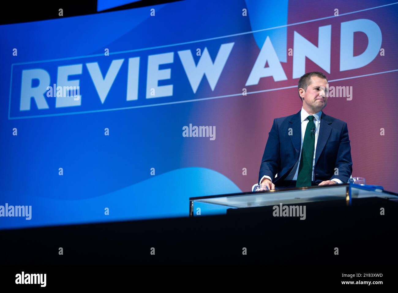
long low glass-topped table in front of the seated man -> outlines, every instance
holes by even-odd
[[[305,205],[306,203],[320,201],[336,201],[336,203],[343,201],[346,205],[351,205],[352,199],[367,197],[380,197],[398,201],[398,193],[385,191],[381,186],[337,184],[281,188],[260,192],[190,197],[189,216],[222,215],[232,212],[232,209]]]

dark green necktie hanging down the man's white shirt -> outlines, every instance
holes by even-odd
[[[307,117],[309,120],[305,129],[304,140],[298,166],[296,187],[311,186],[312,181],[312,160],[314,160],[315,147],[315,123],[314,116]]]

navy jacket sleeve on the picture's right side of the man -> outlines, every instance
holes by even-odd
[[[347,183],[352,173],[351,146],[348,137],[347,123],[344,123],[341,132],[341,140],[335,166],[335,168],[338,168],[338,175],[333,175],[332,178],[338,178],[343,183]],[[332,178],[330,180],[332,180]]]

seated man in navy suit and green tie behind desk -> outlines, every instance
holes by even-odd
[[[301,76],[301,110],[274,119],[259,172],[259,183],[265,189],[341,184],[349,180],[352,160],[347,123],[322,112],[328,103],[327,83],[320,72]]]

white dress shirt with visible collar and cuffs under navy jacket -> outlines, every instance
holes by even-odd
[[[307,117],[310,116],[310,114],[307,113],[307,111],[304,110],[304,108],[301,108],[301,147],[300,147],[300,155],[298,156],[298,161],[296,162],[295,166],[289,173],[289,175],[285,178],[285,180],[297,180],[297,175],[298,175],[298,167],[300,166],[300,159],[301,159],[301,151],[302,151],[302,143],[304,141],[304,135],[305,135],[305,129],[308,124],[308,119]],[[314,164],[315,164],[315,153],[316,153],[316,143],[318,142],[318,134],[319,134],[319,126],[320,126],[320,119],[321,119],[322,111],[319,111],[318,113],[315,113],[314,116],[314,123],[315,123],[315,146],[314,146],[314,156],[312,158],[312,177],[311,180],[314,181]],[[261,180],[263,181],[264,178],[268,178],[272,182],[272,178],[264,175]],[[340,179],[338,178],[333,178],[332,181],[336,181],[339,184],[343,183]]]

